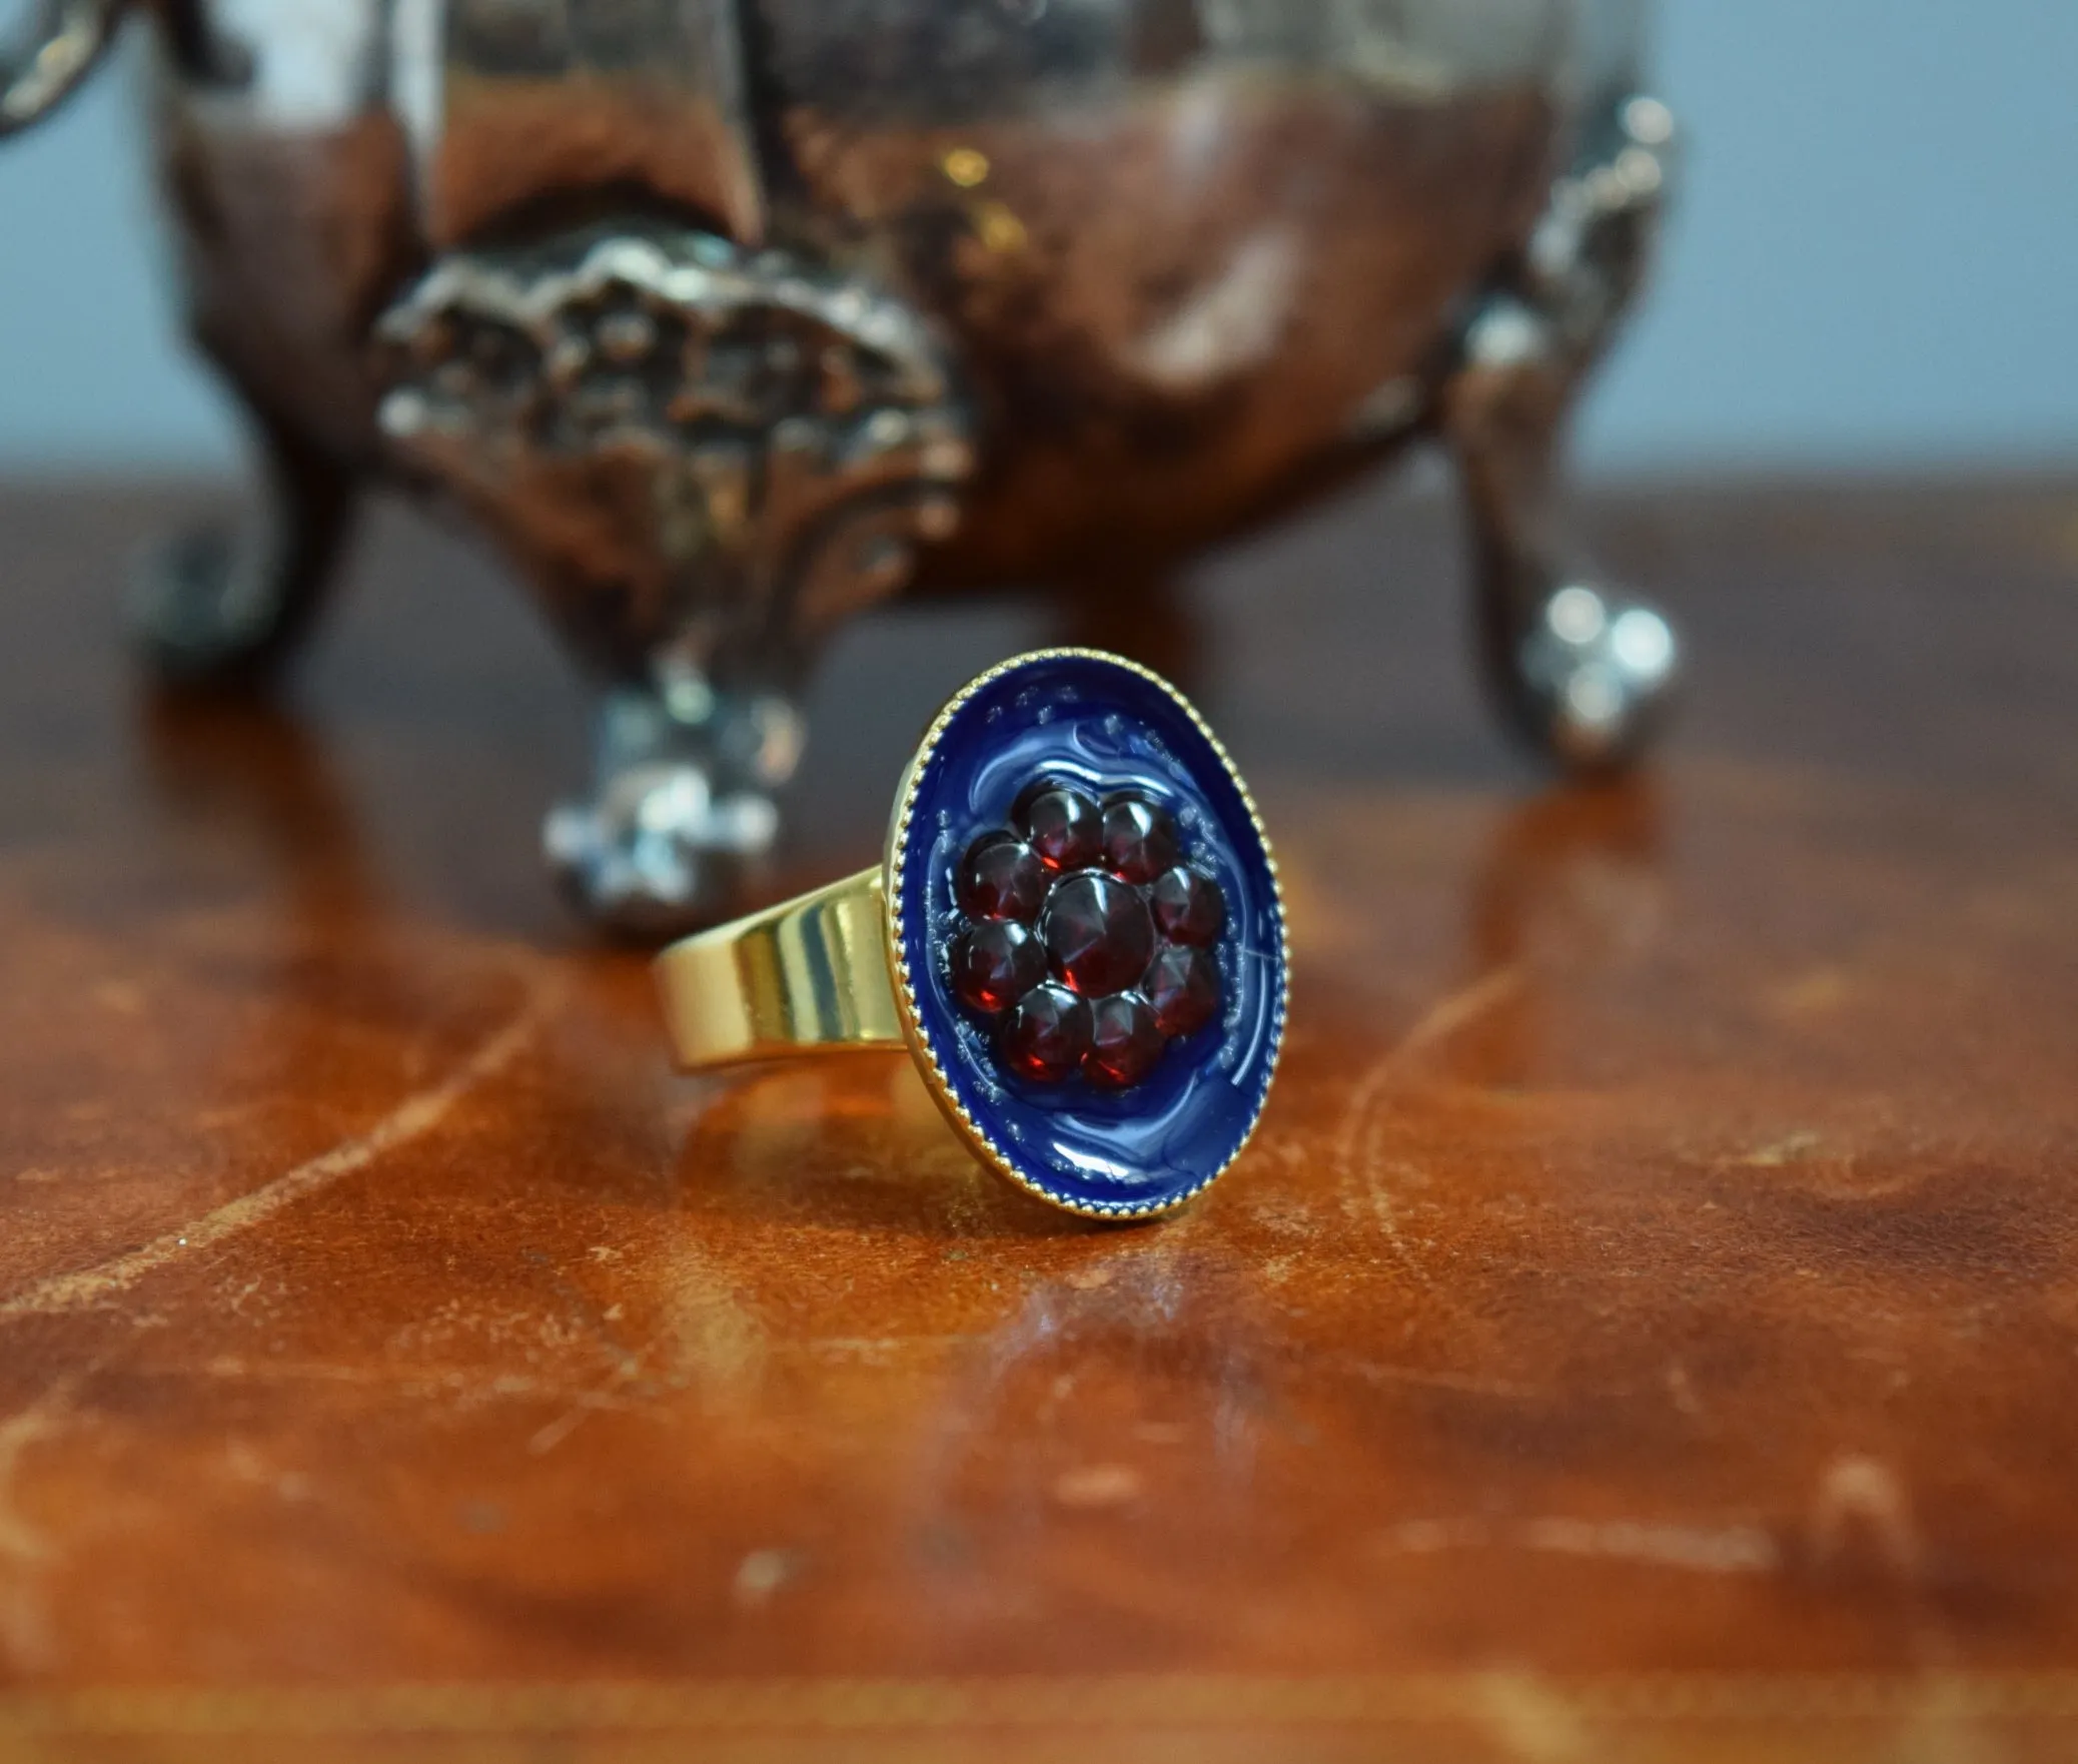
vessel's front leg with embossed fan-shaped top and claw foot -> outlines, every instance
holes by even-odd
[[[771,848],[802,657],[958,526],[948,370],[860,280],[669,229],[451,253],[376,335],[399,457],[561,578],[551,611],[621,681],[549,856],[669,931]]]

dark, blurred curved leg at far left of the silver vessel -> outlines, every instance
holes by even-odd
[[[181,534],[131,584],[131,640],[166,686],[262,684],[310,630],[351,534],[355,476],[285,424],[256,422],[264,484],[247,522]]]

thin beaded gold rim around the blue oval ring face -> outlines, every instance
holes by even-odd
[[[943,740],[945,729],[952,719],[966,706],[966,702],[987,686],[993,686],[1006,673],[1016,673],[1018,669],[1033,667],[1045,661],[1101,661],[1112,667],[1122,667],[1126,673],[1137,673],[1149,686],[1168,694],[1168,698],[1191,719],[1193,727],[1205,738],[1211,752],[1218,756],[1220,765],[1226,767],[1228,779],[1232,779],[1234,790],[1241,794],[1241,806],[1249,810],[1249,823],[1255,827],[1255,837],[1263,848],[1263,862],[1270,868],[1270,891],[1276,906],[1278,918],[1278,999],[1276,999],[1276,1022],[1272,1026],[1272,1047],[1270,1047],[1270,1068],[1263,1072],[1261,1089],[1255,1093],[1255,1116],[1249,1122],[1249,1130],[1234,1145],[1228,1159],[1205,1176],[1195,1186],[1187,1188],[1168,1201],[1118,1201],[1112,1205],[1087,1201],[1074,1201],[1066,1195],[1058,1195],[1045,1184],[1029,1178],[1018,1170],[1016,1161],[993,1141],[987,1130],[977,1122],[966,1105],[954,1095],[952,1078],[945,1074],[945,1066],[937,1058],[937,1047],[931,1045],[931,1035],[923,1026],[923,1016],[916,1004],[916,983],[910,977],[908,954],[902,950],[902,885],[904,866],[908,856],[908,833],[910,821],[916,812],[916,785],[923,779],[925,767],[937,752],[939,740]],[[939,1105],[945,1120],[952,1122],[954,1130],[968,1143],[973,1153],[987,1164],[997,1176],[1016,1182],[1027,1195],[1035,1195],[1051,1207],[1060,1207],[1066,1213],[1076,1213],[1085,1220],[1157,1220],[1174,1213],[1184,1203],[1203,1195],[1214,1182],[1218,1182],[1228,1170],[1234,1168],[1234,1159],[1249,1149],[1249,1141],[1255,1139],[1255,1130],[1263,1120],[1263,1103],[1270,1099],[1270,1085],[1276,1080],[1278,1062],[1284,1058],[1284,1020],[1290,1010],[1290,947],[1284,927],[1284,881],[1278,875],[1278,856],[1270,844],[1270,833],[1263,827],[1263,817],[1255,808],[1255,798],[1249,796],[1249,785],[1243,781],[1238,767],[1234,767],[1232,756],[1226,746],[1211,731],[1211,725],[1197,713],[1197,706],[1182,696],[1174,686],[1170,686],[1151,667],[1141,667],[1137,661],[1128,661],[1122,654],[1112,654],[1101,648],[1037,648],[1024,654],[1014,654],[1008,661],[997,663],[987,673],[977,675],[966,681],[952,698],[945,700],[943,709],[925,729],[923,740],[916,744],[916,752],[910,754],[908,767],[902,771],[902,783],[896,787],[896,808],[887,825],[887,856],[883,860],[883,896],[887,902],[885,931],[887,931],[887,977],[896,989],[896,1004],[902,1012],[902,1037],[910,1045],[910,1053],[916,1060],[916,1070],[923,1074],[925,1087],[931,1091],[931,1099]]]

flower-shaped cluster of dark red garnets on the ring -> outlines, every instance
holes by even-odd
[[[952,987],[995,1022],[1018,1076],[1139,1085],[1220,1008],[1209,952],[1226,896],[1178,862],[1176,825],[1133,792],[1093,802],[1037,783],[1010,819],[960,862]]]

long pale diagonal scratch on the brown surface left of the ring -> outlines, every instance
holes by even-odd
[[[60,1311],[79,1311],[89,1305],[98,1305],[104,1299],[135,1286],[160,1267],[179,1261],[183,1255],[212,1249],[214,1245],[224,1242],[224,1238],[251,1230],[264,1220],[270,1220],[283,1207],[291,1207],[297,1201],[328,1188],[343,1176],[353,1176],[355,1172],[366,1170],[416,1139],[424,1139],[441,1126],[443,1120],[447,1120],[455,1103],[459,1103],[484,1080],[495,1078],[513,1062],[520,1049],[524,1049],[540,1031],[555,995],[555,987],[536,987],[534,995],[526,1001],[526,1006],[522,1006],[520,1014],[511,1018],[511,1022],[497,1031],[436,1085],[416,1091],[397,1103],[397,1107],[382,1116],[382,1120],[378,1120],[368,1132],[355,1134],[353,1139],[335,1145],[330,1151],[318,1153],[305,1164],[297,1164],[272,1182],[264,1182],[262,1186],[239,1195],[235,1201],[224,1201],[224,1205],[214,1207],[199,1220],[177,1226],[141,1249],[133,1249],[129,1255],[116,1255],[94,1267],[81,1267],[73,1274],[54,1274],[50,1280],[39,1280],[25,1292],[17,1292],[6,1303],[0,1303],[0,1324],[10,1324],[19,1317],[48,1317]]]

